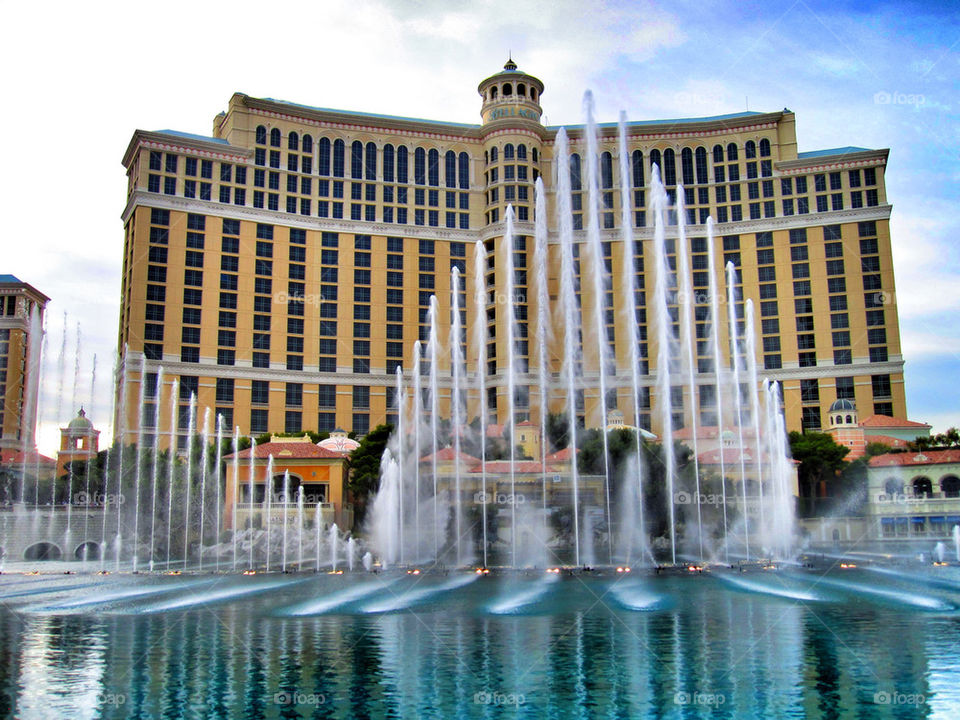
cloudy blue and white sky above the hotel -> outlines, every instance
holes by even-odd
[[[42,450],[54,449],[57,425],[80,404],[109,428],[121,158],[134,130],[208,135],[234,92],[479,123],[477,84],[508,54],[546,84],[550,125],[582,122],[590,89],[601,122],[621,110],[652,120],[786,107],[801,152],[889,148],[907,411],[935,432],[960,424],[955,2],[170,0],[98,9],[0,0],[0,9],[0,273],[52,298]]]

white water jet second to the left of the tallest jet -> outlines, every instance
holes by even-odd
[[[534,246],[533,267],[537,282],[537,377],[540,395],[540,496],[543,512],[543,538],[549,540],[547,527],[547,413],[550,395],[550,368],[547,365],[547,346],[552,338],[550,332],[550,289],[547,287],[549,265],[547,241],[547,194],[543,178],[534,183]]]

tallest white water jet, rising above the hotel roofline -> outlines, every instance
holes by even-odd
[[[590,277],[593,284],[593,326],[597,342],[597,367],[600,377],[600,432],[603,436],[603,492],[607,510],[607,537],[612,537],[610,516],[610,441],[607,437],[607,370],[610,363],[610,338],[607,335],[605,307],[607,298],[606,265],[600,243],[600,170],[597,148],[597,123],[593,116],[593,93],[583,95],[587,116],[587,250],[590,254]],[[612,169],[611,169],[612,173]],[[613,545],[608,541],[609,561],[613,563]]]

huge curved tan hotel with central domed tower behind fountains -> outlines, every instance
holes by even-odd
[[[124,261],[119,347],[125,408],[116,424],[127,442],[141,420],[161,444],[186,440],[189,398],[222,414],[243,434],[336,427],[358,434],[393,421],[394,373],[409,379],[414,342],[426,341],[430,298],[440,333],[449,335],[451,268],[459,293],[471,377],[486,373],[489,421],[503,423],[507,278],[505,214],[516,213],[513,240],[516,350],[522,370],[517,416],[537,421],[534,182],[546,187],[551,245],[551,303],[559,293],[555,219],[559,127],[541,122],[543,83],[511,61],[479,85],[479,124],[330,110],[237,93],[210,136],[137,130],[123,157]],[[662,168],[674,197],[683,187],[688,220],[696,356],[702,387],[679,388],[674,412],[716,422],[709,349],[706,220],[716,221],[716,267],[737,268],[737,317],[756,309],[762,376],[782,382],[790,429],[819,429],[837,399],[869,412],[905,417],[903,360],[890,250],[891,207],[884,188],[887,150],[843,147],[799,152],[789,110],[710,118],[632,122],[629,177],[621,178],[615,124],[600,126],[598,221],[612,293],[603,298],[616,362],[608,407],[633,417],[627,313],[621,267],[637,277],[641,388],[656,404],[652,290],[651,168]],[[585,241],[586,138],[568,126],[573,226]],[[620,184],[631,183],[632,246],[620,235]],[[474,245],[486,250],[488,304],[477,318]],[[668,247],[676,262],[675,247]],[[576,263],[579,269],[579,262]],[[592,324],[590,283],[583,283],[584,333]],[[676,312],[676,307],[671,312]],[[726,304],[721,302],[726,317]],[[590,314],[588,314],[590,313]],[[648,315],[650,316],[648,318]],[[676,322],[676,315],[674,315]],[[472,328],[487,327],[486,365],[477,367]],[[726,322],[722,323],[728,347]],[[650,327],[650,339],[647,329]],[[743,333],[742,322],[738,328]],[[561,369],[562,329],[548,358]],[[444,340],[446,345],[446,340]],[[600,427],[597,344],[584,343],[577,402],[584,422]],[[426,363],[425,363],[426,364]],[[164,382],[157,397],[157,373]],[[438,367],[440,412],[447,416],[449,364]],[[173,381],[179,399],[172,400]],[[141,388],[141,383],[145,386]],[[561,382],[551,408],[565,407]],[[136,400],[143,397],[139,410]],[[177,417],[170,417],[176,404]],[[478,413],[475,392],[468,418]],[[685,413],[681,412],[685,406]],[[652,417],[651,417],[652,416]],[[202,417],[202,413],[201,413]],[[728,416],[729,417],[729,416]],[[656,414],[642,424],[656,427]],[[176,428],[173,426],[176,425]],[[170,433],[174,430],[174,433]]]

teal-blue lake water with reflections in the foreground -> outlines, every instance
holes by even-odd
[[[958,718],[943,570],[4,575],[0,717]]]

